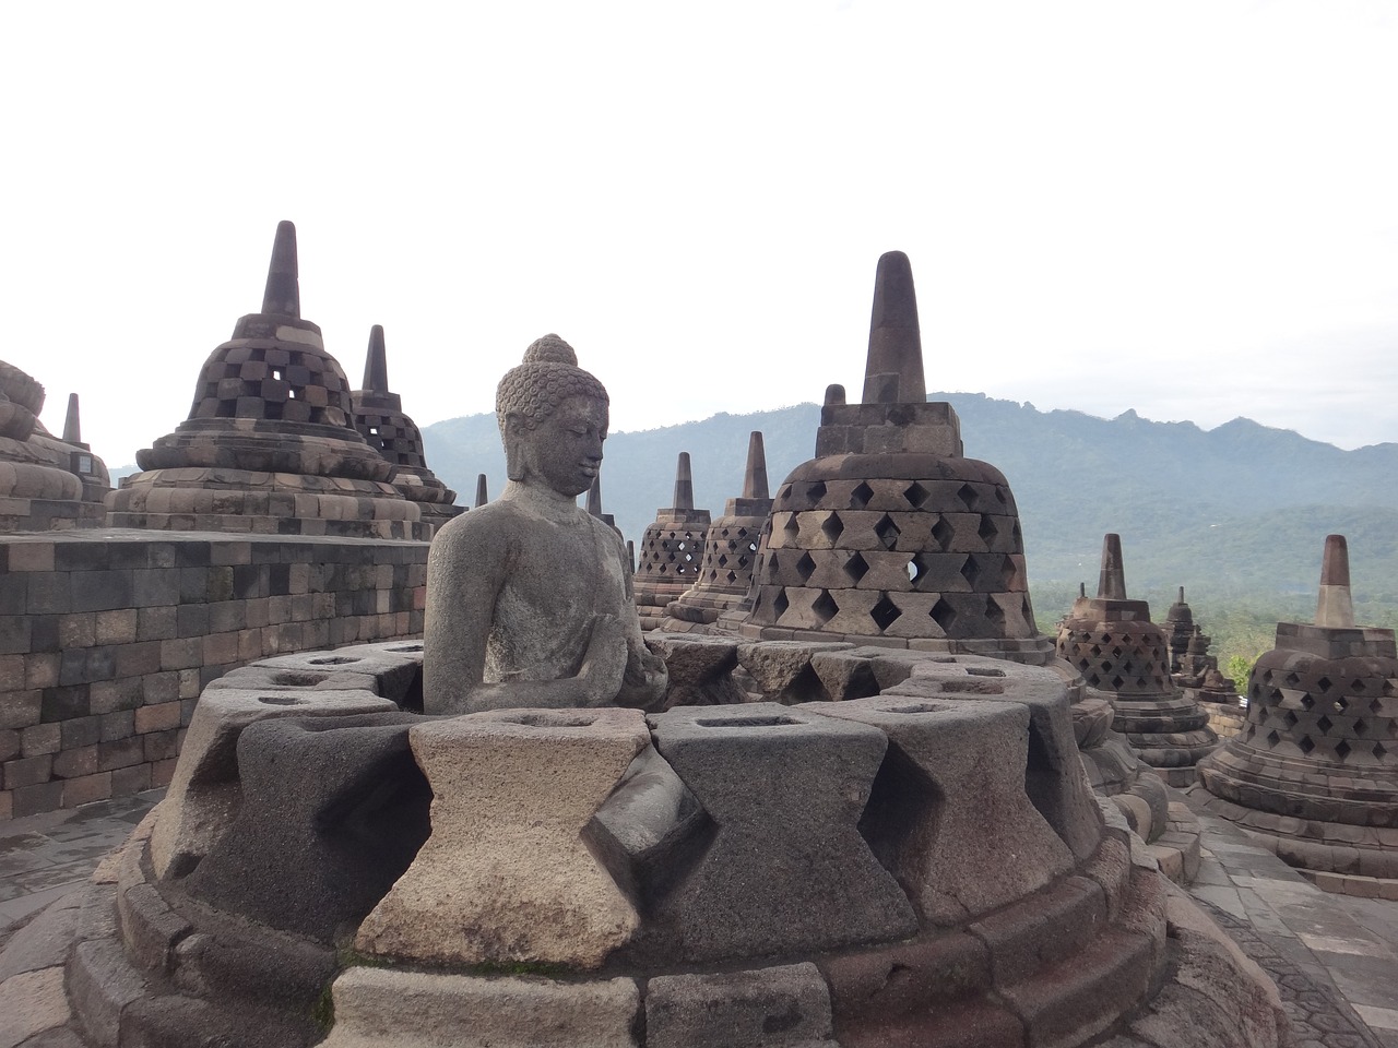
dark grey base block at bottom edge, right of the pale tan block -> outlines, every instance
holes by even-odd
[[[646,1048],[836,1048],[830,994],[811,963],[646,984]]]

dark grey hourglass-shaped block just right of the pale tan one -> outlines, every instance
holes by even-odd
[[[913,907],[857,829],[884,732],[776,703],[677,708],[651,728],[712,843],[644,889],[644,950],[702,963],[913,933]]]

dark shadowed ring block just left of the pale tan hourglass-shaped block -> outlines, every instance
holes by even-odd
[[[238,741],[242,806],[185,890],[215,910],[330,942],[426,840],[431,791],[412,714],[277,718]]]

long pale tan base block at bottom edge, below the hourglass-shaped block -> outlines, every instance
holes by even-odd
[[[432,975],[350,968],[334,982],[336,1026],[323,1048],[637,1048],[632,980]]]

